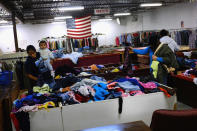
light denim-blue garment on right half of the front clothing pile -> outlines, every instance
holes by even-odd
[[[126,91],[137,91],[137,90],[140,90],[138,85],[134,85],[130,81],[118,82],[117,85],[120,86],[121,88],[123,88]]]

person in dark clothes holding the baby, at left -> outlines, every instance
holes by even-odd
[[[28,57],[25,62],[25,72],[30,82],[28,91],[31,94],[33,91],[33,86],[36,86],[36,82],[38,80],[39,69],[35,62],[40,58],[40,53],[36,52],[36,49],[33,45],[28,45],[26,51]]]

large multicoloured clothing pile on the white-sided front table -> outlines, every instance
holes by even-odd
[[[66,70],[64,73],[68,72]],[[61,76],[59,74],[60,77],[53,81],[55,82],[53,86],[42,79],[43,81],[33,88],[33,94],[23,94],[14,101],[10,116],[17,131],[30,130],[28,112],[39,109],[48,110],[48,108],[58,107],[60,103],[65,106],[154,92],[164,92],[168,97],[173,95],[168,90],[160,88],[157,83],[145,81],[145,79],[140,81],[138,78],[121,77],[107,81],[95,75],[82,78],[73,73]]]

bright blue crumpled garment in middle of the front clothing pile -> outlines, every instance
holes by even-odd
[[[95,96],[94,96],[95,101],[104,100],[105,96],[109,94],[109,92],[106,91],[107,84],[98,83],[97,85],[93,86],[92,88],[94,88],[94,90],[95,90]]]

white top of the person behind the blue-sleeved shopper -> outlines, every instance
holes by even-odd
[[[177,43],[169,36],[164,36],[164,37],[160,38],[160,42],[163,44],[168,44],[168,46],[170,47],[170,49],[173,52],[178,51],[180,49],[180,47],[177,45]]]

